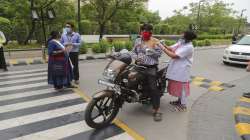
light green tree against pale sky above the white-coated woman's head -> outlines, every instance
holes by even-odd
[[[199,32],[232,33],[238,21],[238,17],[235,16],[237,12],[232,6],[233,3],[221,0],[204,0],[200,4],[193,2],[183,9],[175,10],[174,16],[164,22],[177,33],[187,29],[189,24],[199,25]]]

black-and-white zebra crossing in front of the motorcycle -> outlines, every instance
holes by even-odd
[[[94,130],[87,102],[73,90],[55,91],[46,69],[0,73],[0,140],[133,140],[118,125]]]

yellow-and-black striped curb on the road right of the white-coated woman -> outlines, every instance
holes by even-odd
[[[199,77],[199,76],[191,76],[191,79],[192,80],[190,81],[190,83],[198,87],[206,88],[209,91],[220,92],[220,91],[235,87],[235,85],[232,85],[232,84],[223,83],[220,81],[213,81],[213,80],[206,79],[204,77]]]

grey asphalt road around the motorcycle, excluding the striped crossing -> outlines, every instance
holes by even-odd
[[[206,88],[192,84],[187,112],[173,112],[169,101],[174,98],[165,95],[161,99],[161,112],[164,113],[162,122],[154,122],[151,107],[141,104],[125,104],[120,110],[118,118],[147,140],[199,140],[205,137],[206,139],[221,140],[222,135],[220,136],[220,134],[227,134],[223,136],[223,139],[238,139],[233,125],[234,120],[230,113],[237,98],[243,91],[248,90],[246,83],[249,82],[248,76],[250,75],[245,71],[244,67],[222,64],[222,55],[223,49],[195,51],[192,75],[201,76],[213,81],[232,83],[236,85],[234,88],[225,89],[223,92],[211,92]],[[168,57],[163,56],[161,62],[168,59]],[[107,60],[80,62],[80,88],[88,96],[92,96],[95,92],[105,88],[98,85],[97,80],[102,77],[103,68],[106,64]],[[10,71],[46,69],[46,67],[47,65],[16,66],[11,67]],[[231,96],[227,96],[227,94]],[[222,102],[223,105],[220,104]],[[213,103],[214,105],[218,105],[218,107],[213,106]],[[212,109],[209,110],[209,108]],[[208,111],[201,111],[205,109],[208,109]],[[216,116],[214,115],[216,111],[222,115],[224,114],[221,117],[228,123],[225,121],[219,123],[222,119],[216,119],[216,117],[213,119],[206,118],[207,114],[211,115],[209,117]],[[199,116],[197,113],[201,115]],[[220,129],[214,129],[214,131],[212,129],[202,129],[208,128],[209,125],[217,128],[217,123],[224,125],[220,125],[221,127],[218,127]],[[225,127],[228,129],[223,129]],[[210,132],[205,133],[205,131]]]

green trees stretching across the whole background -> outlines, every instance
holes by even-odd
[[[26,40],[32,29],[30,18],[30,1],[28,0],[0,0],[0,30],[10,40],[17,40],[20,44]],[[34,0],[39,9],[45,2],[52,0]],[[175,10],[175,14],[163,21],[158,12],[150,12],[142,2],[145,0],[85,0],[81,7],[81,34],[136,34],[140,24],[148,22],[154,25],[154,34],[181,34],[188,29],[189,24],[200,25],[198,40],[231,39],[233,31],[237,30],[239,17],[231,8],[230,3],[220,0],[201,2],[200,18],[197,18],[198,2]],[[51,5],[56,13],[54,20],[46,21],[46,35],[48,38],[52,30],[62,31],[65,22],[72,21],[76,25],[75,3],[70,0],[57,0]],[[44,11],[45,12],[45,11]],[[246,21],[246,19],[243,19]],[[242,29],[243,24],[242,22]],[[77,26],[76,26],[77,27]],[[240,29],[240,30],[242,30]],[[203,35],[206,34],[206,35]],[[41,24],[36,23],[33,40],[43,42]]]

